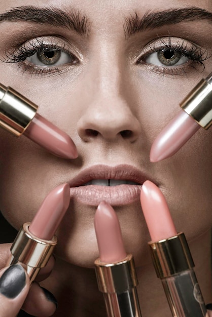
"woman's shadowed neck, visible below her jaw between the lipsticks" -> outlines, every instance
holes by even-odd
[[[189,243],[195,263],[195,273],[205,303],[212,302],[210,231]],[[169,317],[170,309],[160,279],[157,278],[151,259],[149,264],[136,269],[137,292],[143,317]],[[42,286],[57,298],[59,307],[54,317],[106,317],[103,296],[98,291],[94,269],[70,265],[56,259],[55,268]]]

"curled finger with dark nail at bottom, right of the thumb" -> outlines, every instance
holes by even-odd
[[[28,296],[22,306],[27,313],[36,316],[52,316],[57,308],[57,301],[52,293],[32,283]]]

